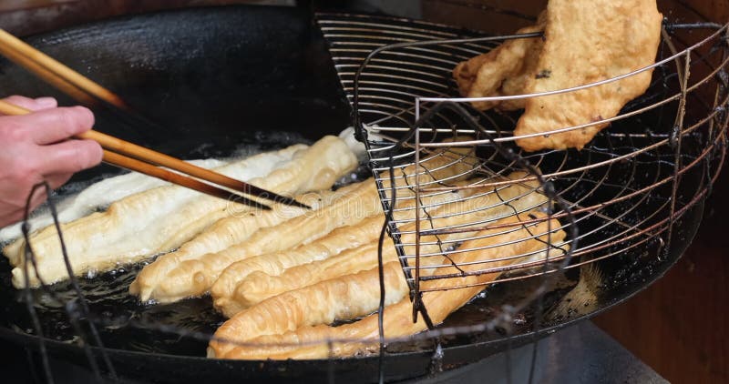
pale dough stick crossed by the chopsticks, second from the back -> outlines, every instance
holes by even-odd
[[[289,153],[291,160],[287,159]],[[283,161],[276,161],[277,156],[283,157]],[[223,167],[221,171],[284,195],[331,187],[337,178],[357,164],[352,151],[334,136],[325,136],[312,147],[294,146],[252,159],[248,163],[243,161]],[[251,179],[248,176],[252,172],[265,177]],[[104,213],[65,225],[63,230],[68,254],[74,258],[75,273],[113,268],[118,262],[146,258],[180,247],[205,227],[228,216],[230,212],[226,208],[243,209],[240,205],[195,192],[173,190],[174,197],[170,198],[170,192],[160,192],[160,188],[128,197],[112,204]],[[38,256],[41,276],[46,281],[57,281],[66,278],[66,273],[61,268],[63,258],[55,230],[51,232],[39,233],[31,246]],[[14,271],[14,284],[19,287],[24,286],[21,272],[18,268]],[[30,284],[36,285],[37,281]]]

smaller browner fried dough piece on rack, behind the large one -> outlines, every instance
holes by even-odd
[[[542,32],[546,15],[539,15],[537,25],[519,29],[517,34]],[[459,63],[453,70],[460,94],[464,97],[514,96],[525,94],[529,80],[534,76],[539,52],[544,42],[539,37],[516,38],[505,41],[486,54]],[[525,99],[504,101],[477,101],[477,109],[523,108]]]

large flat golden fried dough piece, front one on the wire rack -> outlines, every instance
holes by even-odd
[[[583,86],[655,61],[662,15],[655,0],[549,0],[545,43],[529,92]],[[651,84],[652,70],[602,86],[527,100],[515,136],[617,116]],[[582,148],[607,124],[517,140],[527,151]]]

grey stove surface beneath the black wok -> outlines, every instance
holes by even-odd
[[[430,378],[408,383],[425,384],[506,384],[507,359],[511,365],[511,383],[528,383],[533,344],[460,369],[441,372]],[[0,370],[5,378],[13,378],[16,384],[44,382],[40,359],[28,359],[26,351],[15,346],[0,346]],[[87,367],[77,366],[60,359],[50,361],[56,383],[97,383]],[[123,377],[124,372],[118,372]],[[34,377],[36,379],[34,379]],[[488,380],[487,380],[488,379]],[[141,381],[120,380],[122,384],[146,384]],[[334,378],[336,382],[336,378]],[[537,359],[532,382],[535,383],[668,383],[653,369],[637,359],[620,343],[597,328],[590,321],[566,328],[537,344]]]

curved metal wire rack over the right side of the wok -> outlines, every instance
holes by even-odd
[[[726,25],[664,23],[659,60],[652,66],[652,85],[645,95],[631,101],[620,115],[601,121],[611,126],[581,151],[527,153],[514,144],[519,137],[513,136],[512,130],[519,115],[484,113],[469,105],[509,97],[462,98],[451,73],[457,63],[488,52],[507,39],[539,34],[483,36],[445,25],[363,15],[323,14],[318,16],[318,23],[353,106],[358,138],[367,145],[414,308],[424,315],[426,308],[418,308],[419,300],[421,293],[429,290],[425,282],[434,279],[454,281],[438,285],[438,289],[463,288],[456,281],[467,275],[509,272],[500,279],[504,281],[543,277],[607,258],[622,258],[625,263],[642,255],[660,259],[673,241],[683,241],[673,237],[676,220],[710,193],[722,167],[727,123]],[[642,70],[540,95],[600,86]],[[546,134],[581,127],[555,127]],[[457,144],[443,142],[456,136],[470,138]],[[457,150],[468,146],[475,150],[467,155]],[[437,157],[448,157],[449,161],[434,161]],[[453,177],[435,176],[443,168],[463,168],[464,164],[472,167],[459,169]],[[526,173],[516,180],[505,180],[504,176],[513,171]],[[467,187],[455,185],[454,177],[464,178],[464,173],[478,181]],[[397,177],[413,182],[398,184]],[[537,180],[539,187],[508,199],[499,196],[500,188],[530,180]],[[548,217],[539,220],[558,218],[567,238],[560,242],[548,239],[547,254],[539,258],[513,255],[508,266],[494,266],[492,263],[501,260],[490,260],[478,262],[474,268],[458,265],[450,258],[428,263],[427,258],[444,252],[474,250],[453,250],[452,246],[473,239],[477,230],[499,227],[497,220],[503,216],[498,215],[484,215],[484,219],[457,227],[438,226],[433,212],[439,205],[424,202],[437,193],[475,186],[488,188],[486,193],[498,197],[497,204],[510,207],[510,215],[534,209],[514,207],[512,202],[538,191],[548,199],[541,205]],[[464,200],[469,198],[475,197]],[[406,199],[415,199],[416,204],[400,210],[411,210],[411,220],[422,220],[425,226],[404,231],[408,220],[392,216],[398,202]],[[491,208],[477,209],[486,212]],[[522,219],[512,226],[539,220]],[[468,235],[456,241],[443,239],[457,232]],[[414,242],[400,240],[408,234],[415,235]],[[421,252],[433,244],[440,249]],[[458,271],[434,274],[434,268],[448,265]]]

